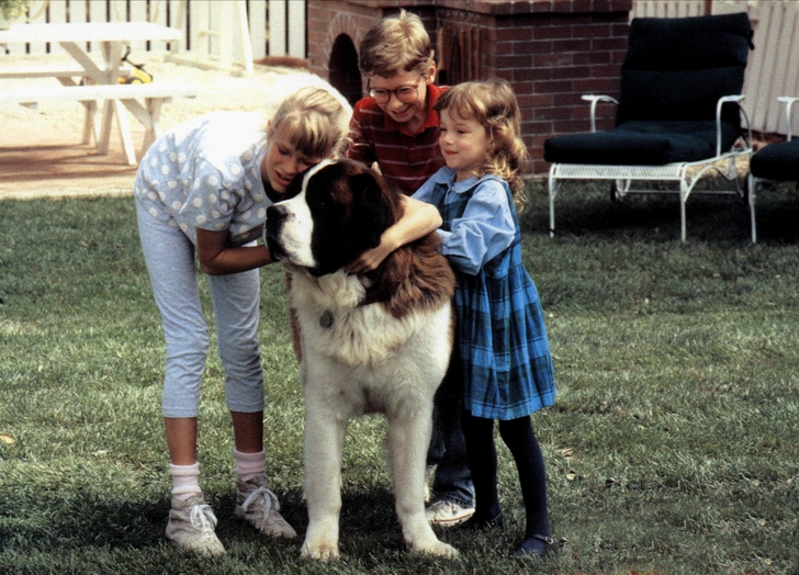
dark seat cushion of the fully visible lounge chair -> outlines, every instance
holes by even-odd
[[[722,122],[722,151],[739,137],[738,127]],[[556,164],[663,166],[716,156],[716,122],[630,121],[605,132],[549,138],[543,159]]]

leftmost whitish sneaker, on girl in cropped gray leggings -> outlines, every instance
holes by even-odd
[[[214,532],[215,527],[216,516],[202,494],[172,498],[165,535],[180,549],[210,557],[223,555],[225,548]]]

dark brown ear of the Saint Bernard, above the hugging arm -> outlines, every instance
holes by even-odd
[[[397,199],[389,190],[383,178],[375,171],[365,169],[352,177],[352,208],[364,214],[358,221],[364,222],[361,238],[364,245],[376,247],[380,236],[395,222]]]

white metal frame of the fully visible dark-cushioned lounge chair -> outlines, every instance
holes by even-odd
[[[596,106],[599,102],[614,103],[619,102],[609,95],[586,94],[583,100],[590,102],[590,131],[596,132]],[[611,193],[614,198],[621,199],[628,193],[637,194],[679,194],[679,215],[680,215],[680,239],[685,243],[687,238],[685,204],[688,196],[694,191],[694,187],[699,179],[708,172],[714,171],[722,176],[727,181],[733,181],[734,190],[713,190],[697,191],[696,193],[712,194],[736,194],[744,198],[745,190],[742,182],[739,182],[735,162],[739,156],[752,154],[752,127],[750,126],[746,111],[741,106],[743,94],[724,95],[719,99],[716,105],[716,156],[699,161],[685,161],[665,164],[663,166],[623,166],[623,165],[597,165],[597,164],[553,164],[549,173],[549,201],[550,201],[550,237],[554,236],[555,230],[555,196],[563,185],[564,180],[611,180]],[[746,124],[746,136],[739,138],[732,149],[723,151],[721,149],[721,109],[725,103],[735,103],[740,112],[743,114]],[[742,142],[743,139],[743,142]],[[719,167],[719,162],[727,162],[724,168]],[[699,171],[694,173],[694,169]],[[633,181],[676,181],[679,182],[679,191],[669,190],[633,190],[631,184]],[[751,200],[752,201],[752,200]],[[753,216],[754,217],[754,216]],[[754,225],[754,219],[753,219]],[[754,227],[753,227],[754,229]]]

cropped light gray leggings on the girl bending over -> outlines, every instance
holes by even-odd
[[[209,354],[209,330],[200,304],[194,245],[179,228],[156,219],[136,201],[138,235],[167,340],[161,410],[165,417],[196,417]],[[217,349],[232,411],[263,409],[258,347],[258,270],[209,275]]]

